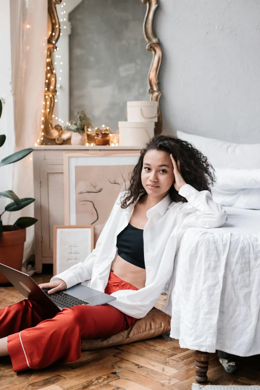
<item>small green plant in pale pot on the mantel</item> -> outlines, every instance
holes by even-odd
[[[91,120],[87,116],[85,110],[77,110],[77,121],[70,121],[68,126],[64,126],[64,130],[72,131],[72,145],[86,145],[87,133],[86,130],[91,128]]]

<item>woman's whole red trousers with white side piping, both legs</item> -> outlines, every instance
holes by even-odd
[[[106,294],[138,290],[110,272]],[[81,356],[81,338],[108,338],[137,321],[115,307],[73,306],[53,318],[48,310],[30,299],[0,310],[0,338],[7,337],[7,349],[14,372],[42,369],[54,362],[74,362]]]

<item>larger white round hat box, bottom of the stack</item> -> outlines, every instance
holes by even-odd
[[[145,146],[154,136],[154,122],[119,122],[120,146]]]

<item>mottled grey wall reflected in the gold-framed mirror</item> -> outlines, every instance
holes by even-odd
[[[95,127],[116,131],[127,101],[150,99],[145,11],[141,0],[83,0],[70,13],[70,118],[86,109]]]

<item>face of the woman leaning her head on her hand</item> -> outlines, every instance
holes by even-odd
[[[143,157],[141,182],[148,195],[166,195],[174,182],[170,155],[161,150],[148,150]]]

